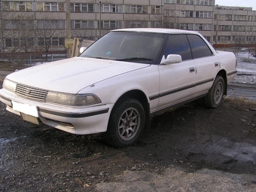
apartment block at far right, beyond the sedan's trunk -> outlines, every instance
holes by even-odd
[[[252,8],[215,6],[215,47],[256,44],[256,11]]]

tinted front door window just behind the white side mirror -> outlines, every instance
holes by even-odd
[[[192,59],[186,35],[169,35],[164,47],[164,56],[181,55],[182,60]]]

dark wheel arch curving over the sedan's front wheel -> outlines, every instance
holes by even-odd
[[[148,98],[145,95],[145,93],[142,92],[142,90],[130,90],[126,93],[123,93],[123,95],[120,96],[119,99],[117,99],[117,102],[115,102],[114,107],[126,98],[137,99],[142,104],[142,106],[145,110],[145,128],[150,129],[150,126],[151,126],[150,106],[149,106]],[[113,111],[113,109],[112,109],[112,111]]]

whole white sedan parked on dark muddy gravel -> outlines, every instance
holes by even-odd
[[[8,75],[0,100],[24,120],[104,133],[124,147],[139,139],[152,114],[200,97],[217,107],[235,75],[234,54],[218,53],[197,32],[117,29],[78,57]]]

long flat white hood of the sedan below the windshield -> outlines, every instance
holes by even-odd
[[[91,84],[147,66],[149,64],[73,57],[23,69],[7,78],[45,90],[78,93]]]

